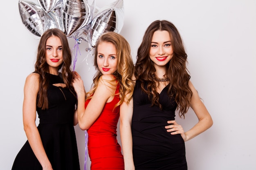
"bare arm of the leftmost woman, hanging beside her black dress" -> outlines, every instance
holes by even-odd
[[[43,144],[36,127],[36,98],[39,90],[39,75],[31,73],[25,82],[23,100],[23,125],[24,130],[36,158],[43,170],[53,170],[52,165],[45,153]]]

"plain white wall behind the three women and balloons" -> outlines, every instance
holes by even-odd
[[[96,0],[98,7],[113,1]],[[10,170],[27,140],[22,124],[23,86],[34,71],[38,37],[22,24],[18,0],[0,3],[0,169]],[[209,130],[186,142],[189,170],[256,169],[256,1],[125,0],[124,9],[120,34],[130,43],[134,62],[144,31],[154,20],[170,20],[182,35],[191,81],[214,121]],[[69,42],[72,48],[74,40]],[[83,61],[86,46],[85,42],[79,45],[82,54],[76,71],[88,91],[94,67],[92,56]],[[184,120],[177,121],[188,130],[197,119],[190,110]],[[82,170],[85,137],[84,131],[75,128]]]

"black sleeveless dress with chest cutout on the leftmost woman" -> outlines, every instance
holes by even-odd
[[[50,85],[47,90],[49,108],[37,108],[40,123],[38,131],[46,155],[54,170],[80,170],[73,126],[75,96],[67,88],[52,84],[64,83],[61,74],[47,73]],[[13,163],[12,170],[42,170],[29,142],[21,148]]]

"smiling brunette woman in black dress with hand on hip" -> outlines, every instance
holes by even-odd
[[[135,64],[132,141],[136,170],[187,170],[184,142],[213,124],[190,81],[186,52],[176,27],[152,22],[144,34]],[[175,121],[189,107],[198,123],[184,132]]]

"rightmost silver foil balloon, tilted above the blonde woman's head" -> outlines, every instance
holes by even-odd
[[[91,22],[88,31],[88,40],[92,48],[95,47],[101,34],[113,31],[120,33],[124,25],[124,1],[117,0],[110,6],[104,7],[98,11]]]

